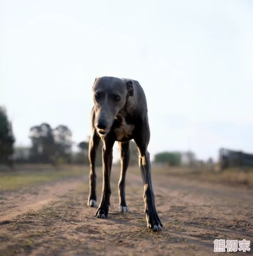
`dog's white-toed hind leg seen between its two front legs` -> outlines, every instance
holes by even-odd
[[[121,151],[121,176],[118,182],[119,211],[130,212],[129,208],[126,205],[125,198],[126,170],[130,159],[129,142],[119,142],[118,144]]]

